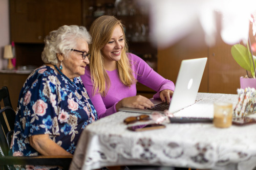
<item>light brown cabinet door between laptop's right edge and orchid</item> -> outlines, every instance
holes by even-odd
[[[231,46],[220,40],[209,48],[208,92],[237,94],[239,78],[246,75],[246,70],[233,59]]]

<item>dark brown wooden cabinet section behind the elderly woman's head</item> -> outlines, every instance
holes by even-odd
[[[81,0],[10,0],[10,34],[16,48],[16,67],[42,65],[44,38],[63,25],[82,25]],[[26,74],[0,73],[0,87],[7,86],[16,109]]]

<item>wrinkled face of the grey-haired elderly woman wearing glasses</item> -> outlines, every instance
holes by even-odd
[[[74,50],[87,52],[89,51],[88,43],[82,39],[77,40],[77,46]],[[84,71],[86,69],[86,65],[89,64],[88,57],[86,59],[82,58],[82,53],[71,51],[69,56],[62,57],[62,66],[61,70],[64,75],[66,75],[69,79],[74,79],[75,77],[79,77],[84,75]]]

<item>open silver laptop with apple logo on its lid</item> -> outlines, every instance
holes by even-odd
[[[195,103],[206,61],[207,58],[182,60],[174,94],[169,105],[170,113],[175,113]],[[162,103],[161,100],[154,100],[153,98],[150,100],[154,103],[154,105]],[[158,110],[123,107],[120,108],[119,111],[150,114]]]

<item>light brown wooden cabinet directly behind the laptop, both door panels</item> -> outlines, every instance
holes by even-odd
[[[218,36],[216,44],[208,47],[203,42],[203,38],[202,35],[193,39],[194,41],[201,39],[202,43],[199,43],[201,45],[197,46],[191,43],[191,38],[186,37],[168,48],[159,48],[159,74],[175,83],[181,60],[207,57],[199,92],[237,94],[237,89],[240,88],[239,78],[246,75],[246,71],[233,59],[232,45],[226,44]]]

